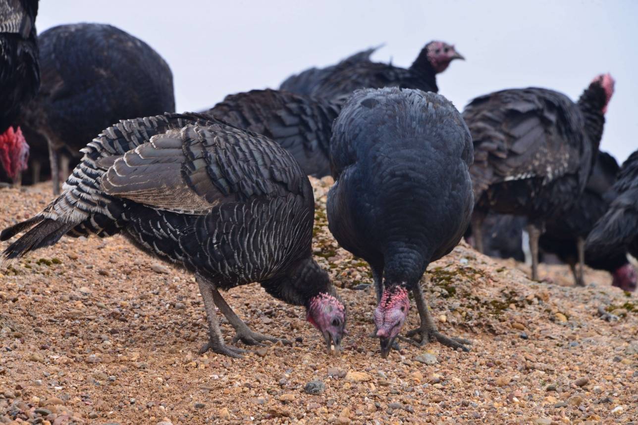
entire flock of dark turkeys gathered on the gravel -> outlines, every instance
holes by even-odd
[[[614,78],[581,97],[538,87],[476,97],[459,112],[436,76],[454,45],[427,43],[409,68],[378,48],[176,113],[173,76],[144,41],[111,25],[36,34],[37,0],[0,0],[0,178],[52,180],[57,197],[4,229],[3,265],[71,237],[122,234],[195,276],[209,326],[202,352],[286,342],[246,326],[221,295],[257,282],[304,306],[327,351],[346,335],[346,303],[312,256],[308,175],[332,176],[330,232],[370,266],[380,354],[397,339],[469,350],[441,333],[422,290],[427,266],[466,238],[524,261],[554,254],[585,285],[584,264],[635,291],[638,151],[622,166],[599,150]],[[61,186],[61,182],[64,184]],[[420,326],[401,336],[410,295]],[[216,308],[235,329],[221,334]]]

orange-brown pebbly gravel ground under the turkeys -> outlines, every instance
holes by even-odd
[[[327,231],[329,184],[313,180],[314,252],[348,305],[340,356],[325,354],[301,308],[258,285],[226,299],[253,329],[296,338],[293,346],[251,348],[243,359],[199,355],[206,321],[191,275],[121,237],[63,238],[0,271],[0,423],[638,420],[638,303],[603,272],[588,270],[584,289],[570,287],[567,266],[541,269],[551,285],[531,282],[523,264],[461,243],[423,283],[441,331],[472,340],[471,352],[402,343],[382,359],[367,337],[369,269]],[[5,227],[41,210],[50,187],[0,189],[0,198]],[[417,322],[414,309],[405,329]],[[225,321],[223,331],[230,340]]]

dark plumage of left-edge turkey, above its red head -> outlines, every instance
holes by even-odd
[[[38,0],[0,1],[0,134],[40,87],[37,14]]]

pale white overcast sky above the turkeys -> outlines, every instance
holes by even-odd
[[[511,87],[577,99],[611,72],[616,93],[601,148],[618,161],[638,148],[635,0],[40,0],[38,31],[100,22],[146,41],[172,68],[178,111],[226,94],[278,87],[291,73],[385,43],[373,59],[409,66],[430,40],[466,57],[438,76],[459,109]]]

